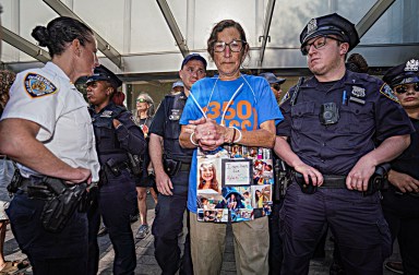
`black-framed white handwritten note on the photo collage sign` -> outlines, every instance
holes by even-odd
[[[222,159],[223,187],[252,183],[252,159]]]

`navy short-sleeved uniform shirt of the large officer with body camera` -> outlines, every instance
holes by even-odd
[[[368,74],[346,71],[327,92],[315,77],[304,82],[291,108],[294,88],[280,105],[285,121],[277,135],[290,138],[292,151],[325,175],[347,175],[380,142],[414,130],[390,86]],[[335,103],[335,124],[320,121],[321,105]]]

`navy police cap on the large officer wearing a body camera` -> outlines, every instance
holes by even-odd
[[[336,35],[349,44],[349,51],[359,44],[355,25],[337,13],[327,14],[310,20],[300,34],[301,48],[311,38],[325,35]]]

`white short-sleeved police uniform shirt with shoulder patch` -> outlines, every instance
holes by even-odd
[[[91,169],[98,181],[99,163],[87,103],[55,63],[16,75],[2,119],[20,118],[40,125],[36,136],[58,158],[72,167]],[[24,177],[36,175],[21,166]]]

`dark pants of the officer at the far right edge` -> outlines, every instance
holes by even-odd
[[[392,240],[397,237],[405,274],[419,274],[419,198],[383,192],[382,206]]]

